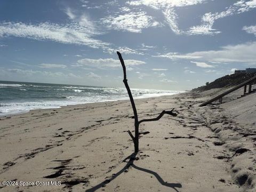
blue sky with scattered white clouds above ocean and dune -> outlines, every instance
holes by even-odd
[[[0,0],[0,80],[190,90],[256,67],[256,0]]]

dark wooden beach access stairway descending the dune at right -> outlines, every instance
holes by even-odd
[[[250,78],[249,80],[247,80],[247,81],[245,81],[245,82],[243,82],[243,83],[233,87],[232,89],[230,89],[230,90],[228,90],[228,91],[226,91],[224,93],[219,94],[217,97],[214,97],[214,98],[212,98],[212,99],[202,103],[201,105],[199,105],[199,107],[206,106],[206,105],[212,103],[213,101],[217,101],[217,100],[219,100],[219,102],[222,103],[222,98],[225,95],[227,95],[227,94],[229,94],[229,93],[231,93],[233,91],[236,91],[236,90],[240,89],[243,86],[244,86],[244,94],[241,95],[241,97],[238,97],[237,99],[245,97],[246,95],[249,95],[251,93],[254,93],[254,92],[256,92],[256,89],[252,89],[252,83],[255,80],[256,80],[256,76],[254,76],[254,77]],[[248,91],[247,91],[247,85],[248,85]]]

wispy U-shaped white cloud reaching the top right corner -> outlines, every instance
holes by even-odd
[[[161,10],[167,24],[170,26],[175,34],[188,34],[188,35],[214,35],[219,34],[221,31],[213,29],[215,20],[246,11],[250,11],[256,7],[256,0],[245,1],[241,0],[235,4],[226,7],[225,11],[215,13],[205,13],[202,17],[202,24],[198,26],[192,26],[188,31],[179,29],[178,15],[175,13],[175,7],[183,7],[189,5],[196,5],[207,2],[207,0],[137,0],[127,1],[126,4],[133,6],[149,6],[153,9]]]

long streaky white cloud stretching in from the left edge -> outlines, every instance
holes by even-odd
[[[109,43],[94,39],[92,38],[93,35],[95,35],[95,31],[86,26],[81,26],[76,22],[67,25],[58,25],[49,22],[35,25],[22,22],[0,23],[0,38],[14,36],[39,41],[54,41],[106,49]]]

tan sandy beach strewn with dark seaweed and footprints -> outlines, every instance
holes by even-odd
[[[202,108],[213,91],[135,100],[139,119],[172,108],[179,113],[140,125],[150,133],[141,134],[136,158],[129,158],[128,100],[1,117],[0,178],[18,185],[0,190],[255,191],[256,94],[233,100],[235,94]]]

